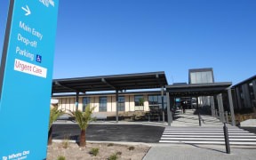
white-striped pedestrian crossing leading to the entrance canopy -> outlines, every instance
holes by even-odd
[[[256,134],[237,127],[228,127],[228,138],[233,146],[255,146]],[[189,143],[224,145],[222,127],[166,127],[160,143]]]

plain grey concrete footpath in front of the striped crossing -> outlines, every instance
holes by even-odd
[[[143,160],[255,160],[255,157],[255,148],[231,148],[228,155],[225,148],[184,145],[152,147]]]

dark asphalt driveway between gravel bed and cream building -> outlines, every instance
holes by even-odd
[[[79,140],[80,128],[77,124],[53,124],[52,139]],[[86,130],[86,140],[126,141],[158,143],[164,127],[141,124],[91,124]]]

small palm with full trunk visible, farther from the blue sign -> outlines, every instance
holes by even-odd
[[[80,143],[79,146],[80,147],[85,147],[86,146],[86,137],[85,137],[85,131],[86,128],[88,127],[88,124],[90,124],[90,122],[94,121],[95,118],[92,118],[92,111],[94,110],[95,107],[90,107],[90,105],[88,105],[85,108],[85,112],[82,112],[80,110],[76,110],[75,112],[71,112],[73,116],[76,117],[76,122],[79,125],[80,129],[81,129],[81,134],[80,134]]]

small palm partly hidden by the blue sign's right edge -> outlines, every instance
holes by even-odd
[[[52,145],[52,124],[53,122],[64,112],[58,110],[58,107],[51,108],[50,110],[50,120],[49,120],[49,127],[48,127],[48,145]]]

